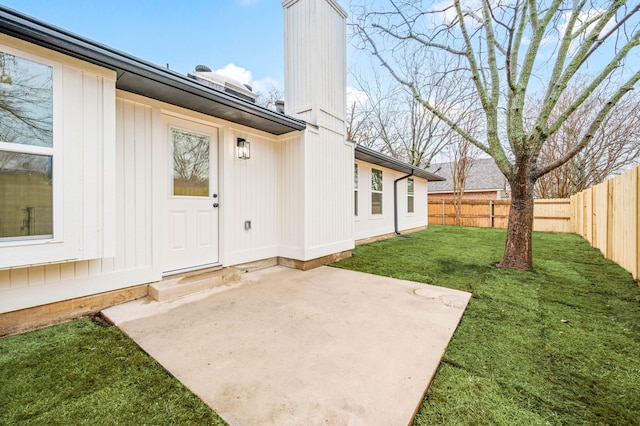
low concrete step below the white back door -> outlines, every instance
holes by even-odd
[[[224,287],[240,280],[236,268],[212,268],[205,271],[169,276],[149,285],[149,295],[157,301],[174,300],[201,291]]]

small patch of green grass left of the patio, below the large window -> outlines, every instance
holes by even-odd
[[[0,339],[0,378],[0,424],[226,424],[117,327],[91,318]]]

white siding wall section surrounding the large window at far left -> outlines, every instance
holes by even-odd
[[[53,67],[54,220],[62,223],[52,240],[0,244],[0,312],[6,312],[74,297],[70,283],[95,293],[79,280],[114,268],[116,75],[6,35],[0,44]]]

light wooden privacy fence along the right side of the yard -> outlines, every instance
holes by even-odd
[[[571,197],[575,233],[640,280],[640,166]]]

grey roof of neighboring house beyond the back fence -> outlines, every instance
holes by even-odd
[[[429,185],[430,193],[453,192],[452,164],[432,164],[427,169],[431,173],[438,173],[446,179],[446,181]],[[505,190],[506,188],[506,179],[492,158],[474,160],[464,185],[465,191],[496,191]]]

